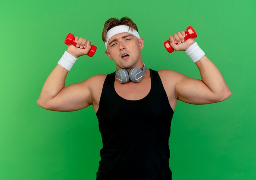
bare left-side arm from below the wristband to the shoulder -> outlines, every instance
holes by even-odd
[[[40,107],[52,111],[76,111],[92,104],[90,80],[64,87],[67,72],[58,64],[50,73],[37,100]]]

